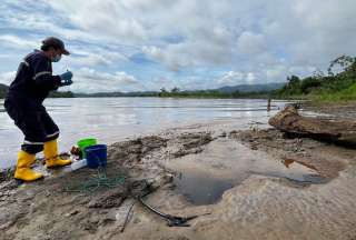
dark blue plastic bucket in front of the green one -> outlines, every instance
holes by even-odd
[[[107,146],[106,144],[95,144],[86,148],[87,154],[87,166],[88,168],[98,168],[107,166]]]

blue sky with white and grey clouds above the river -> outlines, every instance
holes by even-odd
[[[1,0],[0,82],[48,36],[76,92],[283,82],[356,56],[355,16],[355,0]]]

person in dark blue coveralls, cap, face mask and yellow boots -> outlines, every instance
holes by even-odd
[[[60,76],[52,74],[52,62],[58,62],[62,54],[69,56],[69,52],[60,39],[44,39],[41,50],[34,50],[23,58],[7,93],[4,108],[24,134],[14,172],[18,180],[34,181],[43,178],[41,173],[31,170],[36,153],[42,150],[47,168],[71,163],[58,156],[59,129],[42,104],[50,91],[72,83],[70,71]]]

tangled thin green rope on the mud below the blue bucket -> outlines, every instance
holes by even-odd
[[[101,187],[117,188],[125,182],[126,177],[119,176],[116,178],[109,178],[107,176],[106,168],[98,168],[97,176],[77,186],[66,186],[66,192],[95,192]]]

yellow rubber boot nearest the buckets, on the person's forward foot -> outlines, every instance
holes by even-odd
[[[47,168],[57,168],[71,164],[71,160],[60,159],[58,156],[58,144],[57,139],[52,141],[44,142],[44,159]]]

